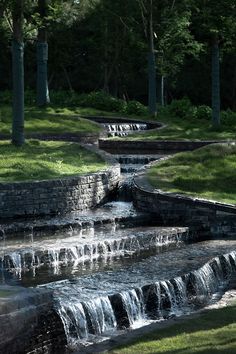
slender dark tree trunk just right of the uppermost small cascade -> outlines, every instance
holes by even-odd
[[[157,115],[157,93],[156,93],[156,61],[153,41],[153,18],[152,18],[152,0],[150,0],[150,20],[149,20],[149,55],[148,55],[148,108],[152,116]]]

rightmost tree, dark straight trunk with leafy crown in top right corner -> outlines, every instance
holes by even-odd
[[[196,37],[211,51],[212,126],[220,126],[220,52],[232,44],[236,36],[235,0],[197,0],[193,25]]]

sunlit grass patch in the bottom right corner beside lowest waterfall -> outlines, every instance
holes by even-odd
[[[236,304],[211,310],[109,351],[113,354],[235,354]]]

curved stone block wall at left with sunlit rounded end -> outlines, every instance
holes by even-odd
[[[66,214],[93,208],[117,186],[120,165],[57,180],[0,183],[0,218]]]

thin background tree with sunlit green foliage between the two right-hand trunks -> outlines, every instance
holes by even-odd
[[[186,58],[198,57],[202,44],[191,33],[191,7],[189,1],[166,1],[159,7],[157,24],[157,83],[158,103],[164,104],[166,82],[175,82]]]

